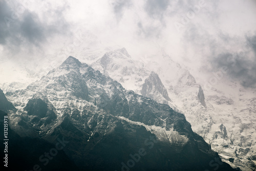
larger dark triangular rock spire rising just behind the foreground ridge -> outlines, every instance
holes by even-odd
[[[145,80],[142,86],[141,95],[152,99],[161,98],[158,96],[162,96],[166,100],[164,102],[166,104],[167,101],[170,101],[167,90],[163,86],[158,74],[155,72],[151,72],[150,76]]]

